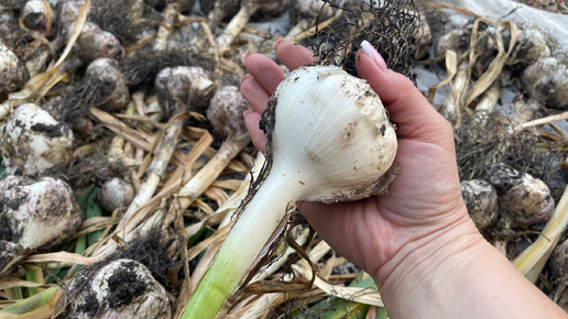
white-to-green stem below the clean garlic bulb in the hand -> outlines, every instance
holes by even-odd
[[[286,215],[288,201],[295,202],[303,191],[291,173],[272,172],[269,175],[264,183],[280,185],[281,188],[261,187],[249,202],[247,211],[251,213],[243,213],[234,223],[215,263],[185,307],[183,319],[214,318],[225,300],[237,289],[241,278]],[[260,219],[262,227],[256,224]]]

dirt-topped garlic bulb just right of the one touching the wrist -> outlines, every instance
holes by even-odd
[[[511,228],[526,229],[553,216],[554,199],[543,180],[499,164],[493,167],[489,182],[498,190],[499,207]]]

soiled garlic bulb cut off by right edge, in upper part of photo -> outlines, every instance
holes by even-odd
[[[527,66],[521,76],[523,89],[531,98],[544,101],[547,107],[568,107],[568,68],[566,62],[545,57]]]

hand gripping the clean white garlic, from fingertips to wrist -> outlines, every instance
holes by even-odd
[[[276,42],[276,54],[295,69],[315,58],[293,42]],[[374,51],[374,48],[373,48]],[[373,59],[374,58],[374,59]],[[298,207],[309,223],[339,254],[375,278],[381,287],[406,254],[423,241],[437,238],[458,224],[477,233],[461,198],[452,130],[411,80],[386,69],[376,52],[358,52],[357,70],[369,81],[396,123],[401,173],[390,193],[356,202]],[[252,111],[245,113],[254,145],[264,152],[261,113],[284,77],[283,70],[260,54],[245,54],[250,75],[241,79],[241,92]]]

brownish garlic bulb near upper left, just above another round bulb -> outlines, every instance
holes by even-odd
[[[67,36],[70,36],[74,28],[75,23],[68,26]],[[92,22],[85,23],[77,40],[77,47],[80,58],[86,63],[99,57],[117,57],[123,52],[120,42],[112,33],[102,31]]]

